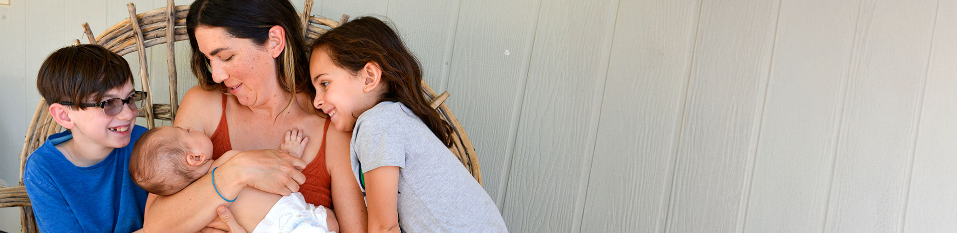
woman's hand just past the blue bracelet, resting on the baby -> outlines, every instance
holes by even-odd
[[[302,159],[278,150],[240,152],[223,164],[241,174],[236,181],[282,196],[299,192],[299,185],[305,182],[305,175],[300,172],[305,165]]]

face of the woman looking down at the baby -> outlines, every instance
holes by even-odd
[[[210,59],[212,80],[225,85],[240,104],[261,105],[274,95],[278,84],[272,53],[251,39],[229,35],[223,28],[200,26],[195,34],[200,53]]]

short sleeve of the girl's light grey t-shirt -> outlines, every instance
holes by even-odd
[[[386,111],[371,109],[356,121],[356,157],[366,173],[381,166],[406,166],[406,139],[409,138],[405,123]]]

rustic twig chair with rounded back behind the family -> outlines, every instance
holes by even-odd
[[[345,14],[339,21],[322,16],[310,15],[312,3],[312,0],[306,0],[305,6],[302,8],[303,12],[300,14],[301,22],[303,25],[306,25],[306,43],[312,42],[323,32],[338,27],[348,20],[348,15]],[[166,8],[146,11],[139,14],[136,13],[136,7],[132,3],[126,4],[126,6],[129,9],[129,18],[113,25],[97,36],[94,36],[93,32],[90,31],[89,25],[84,23],[82,25],[83,32],[89,43],[101,45],[120,55],[133,52],[139,54],[140,83],[142,84],[143,91],[148,93],[148,97],[145,99],[145,105],[152,106],[152,108],[145,108],[144,111],[141,111],[140,117],[146,118],[146,127],[151,129],[155,126],[155,120],[172,120],[173,117],[176,116],[179,95],[176,92],[176,60],[174,58],[173,42],[189,39],[186,32],[186,14],[189,11],[189,6],[174,6],[173,0],[167,0]],[[167,11],[168,9],[173,9],[174,11]],[[137,20],[131,20],[134,17]],[[174,30],[167,31],[167,28],[170,28],[170,26],[172,26],[171,28]],[[79,40],[74,41],[74,44],[78,45],[79,43]],[[156,96],[149,90],[150,77],[147,72],[145,49],[161,44],[167,45],[167,78],[169,80],[170,104],[153,104],[153,98]],[[472,142],[465,134],[462,125],[458,123],[456,116],[453,115],[444,104],[445,99],[449,97],[449,93],[446,92],[441,95],[436,95],[432,88],[425,82],[422,82],[422,86],[425,89],[423,95],[428,96],[428,99],[432,101],[431,106],[436,109],[453,128],[453,145],[449,149],[462,162],[462,165],[472,173],[473,177],[479,181],[479,184],[481,184],[479,159],[476,157],[476,151],[472,147]],[[37,232],[30,198],[27,197],[27,191],[23,186],[23,169],[26,165],[27,158],[33,153],[33,150],[43,144],[43,141],[46,140],[47,137],[62,130],[47,111],[48,108],[45,100],[40,99],[39,104],[36,106],[36,111],[33,112],[33,119],[27,129],[23,149],[19,155],[19,186],[0,187],[0,207],[20,207],[20,223],[23,232]]]

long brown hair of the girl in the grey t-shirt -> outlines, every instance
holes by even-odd
[[[436,138],[446,146],[452,145],[452,128],[425,98],[418,59],[385,22],[375,17],[353,19],[323,33],[311,48],[325,50],[336,66],[352,74],[358,74],[369,62],[378,64],[382,69],[380,83],[386,88],[379,101],[402,102],[429,126]]]

